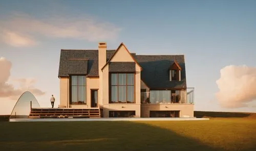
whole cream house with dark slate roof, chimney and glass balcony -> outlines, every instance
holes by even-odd
[[[61,49],[62,108],[99,108],[103,117],[194,117],[184,55],[136,55],[121,43],[107,50]]]

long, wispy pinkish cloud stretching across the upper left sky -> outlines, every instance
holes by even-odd
[[[15,47],[35,45],[40,36],[90,42],[113,40],[120,30],[112,23],[87,15],[38,19],[27,14],[14,14],[0,21],[1,41]]]

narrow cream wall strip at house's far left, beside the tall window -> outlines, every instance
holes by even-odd
[[[59,78],[60,100],[59,105],[69,107],[69,78]]]

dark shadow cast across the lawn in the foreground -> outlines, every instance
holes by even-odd
[[[2,122],[1,150],[224,150],[129,121]]]

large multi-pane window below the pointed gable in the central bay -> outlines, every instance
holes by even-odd
[[[134,73],[111,73],[110,103],[135,103]]]

